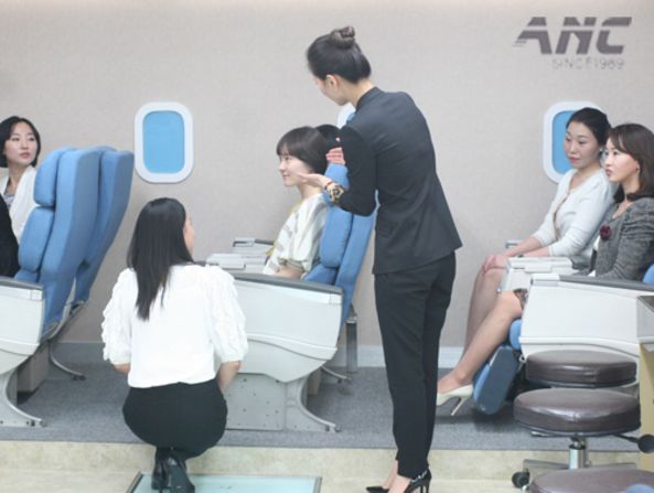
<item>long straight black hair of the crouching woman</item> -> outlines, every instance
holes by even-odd
[[[127,265],[137,274],[139,293],[137,311],[142,320],[150,318],[150,308],[170,277],[170,268],[192,262],[184,243],[184,206],[174,199],[156,199],[148,202],[137,218],[127,254]]]

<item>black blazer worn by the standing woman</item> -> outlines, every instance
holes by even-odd
[[[461,246],[427,121],[410,96],[368,90],[341,129],[341,142],[350,175],[341,207],[369,215],[378,192],[373,272],[420,267]]]

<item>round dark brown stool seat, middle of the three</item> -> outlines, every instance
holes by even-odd
[[[639,401],[614,390],[544,388],[521,394],[513,416],[536,431],[560,437],[623,433],[641,426]]]

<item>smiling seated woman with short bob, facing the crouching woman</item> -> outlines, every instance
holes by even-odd
[[[329,129],[323,129],[329,136]],[[290,130],[277,143],[283,184],[294,186],[300,201],[291,208],[279,231],[264,267],[264,274],[302,278],[317,264],[328,204],[319,186],[308,184],[299,173],[324,173],[330,146],[312,127]]]

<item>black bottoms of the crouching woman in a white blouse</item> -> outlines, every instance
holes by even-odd
[[[157,447],[157,459],[186,460],[215,446],[225,432],[227,406],[214,378],[129,389],[122,406],[131,431]]]

